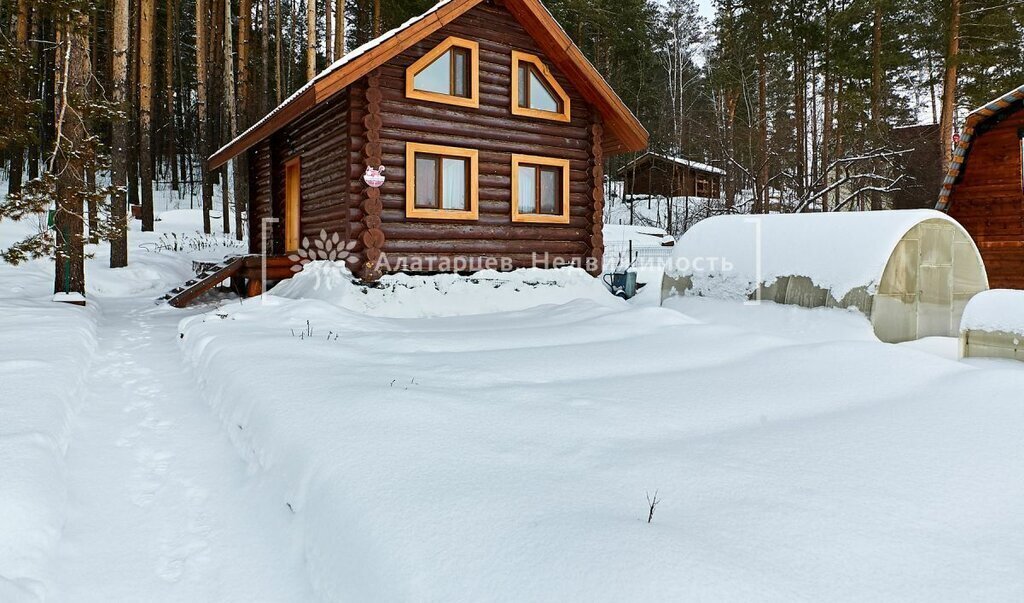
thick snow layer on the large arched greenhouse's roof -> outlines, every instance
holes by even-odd
[[[873,292],[900,239],[935,210],[715,216],[676,244],[666,273],[694,276],[701,295],[745,299],[759,283],[807,276],[836,299]]]

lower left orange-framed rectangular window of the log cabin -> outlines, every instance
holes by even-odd
[[[476,219],[476,150],[409,142],[406,166],[408,217]]]

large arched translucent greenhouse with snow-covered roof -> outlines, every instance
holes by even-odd
[[[967,231],[934,210],[709,218],[676,245],[662,300],[677,295],[856,308],[886,342],[956,337],[988,289]]]

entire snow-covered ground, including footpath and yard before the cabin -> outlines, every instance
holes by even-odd
[[[573,270],[176,310],[236,248],[165,209],[85,308],[0,264],[0,602],[1024,599],[1020,362]]]

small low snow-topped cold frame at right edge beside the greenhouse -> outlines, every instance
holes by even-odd
[[[1024,291],[985,291],[968,303],[961,355],[1024,360]]]

